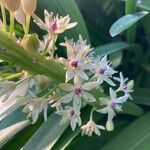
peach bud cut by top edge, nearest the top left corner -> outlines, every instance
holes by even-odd
[[[5,7],[11,11],[15,12],[20,7],[20,0],[3,0],[3,3],[5,4]]]

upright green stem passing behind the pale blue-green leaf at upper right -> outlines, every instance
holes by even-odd
[[[134,14],[136,12],[136,9],[137,9],[136,3],[137,3],[137,0],[126,0],[126,8],[125,8],[126,15]],[[135,36],[136,36],[136,25],[133,25],[127,30],[128,43],[134,43]]]

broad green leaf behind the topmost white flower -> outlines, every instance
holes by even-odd
[[[38,14],[43,14],[44,9],[48,11],[53,11],[54,13],[58,13],[60,15],[68,15],[71,17],[72,22],[78,22],[78,25],[65,32],[65,36],[68,38],[78,38],[78,35],[81,34],[84,38],[89,40],[89,35],[87,28],[85,26],[83,17],[80,13],[80,10],[74,0],[41,0],[38,1]]]

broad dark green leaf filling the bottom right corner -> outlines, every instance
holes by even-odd
[[[150,112],[134,121],[100,150],[149,150]]]

